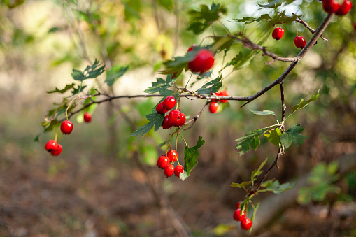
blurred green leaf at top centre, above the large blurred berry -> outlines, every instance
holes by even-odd
[[[213,2],[210,8],[201,5],[200,10],[190,10],[188,14],[190,15],[190,22],[187,30],[193,31],[194,34],[201,34],[211,24],[219,20],[221,15],[227,14],[227,8]]]

